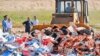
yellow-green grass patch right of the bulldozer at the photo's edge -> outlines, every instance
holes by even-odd
[[[89,12],[90,25],[100,31],[100,11]]]

